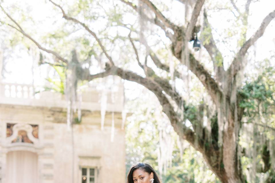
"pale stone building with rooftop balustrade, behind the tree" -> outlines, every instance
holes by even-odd
[[[0,178],[2,183],[125,182],[123,84],[107,91],[104,126],[101,92],[82,92],[79,124],[66,124],[66,100],[31,85],[0,82]],[[104,112],[103,112],[104,113]],[[103,127],[103,128],[102,128]]]

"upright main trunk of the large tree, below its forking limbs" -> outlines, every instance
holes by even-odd
[[[217,102],[219,126],[219,157],[218,170],[215,174],[224,183],[244,182],[239,152],[239,130],[241,116],[238,116],[237,85],[233,83],[223,88],[223,96]]]

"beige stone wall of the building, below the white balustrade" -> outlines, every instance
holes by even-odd
[[[121,130],[121,113],[115,112],[114,118],[114,140],[111,142],[110,112],[106,113],[104,129],[101,130],[100,111],[82,110],[82,122],[74,124],[71,131],[65,123],[64,108],[1,104],[0,101],[2,182],[7,182],[6,155],[18,150],[37,153],[38,177],[42,183],[80,183],[81,167],[95,168],[97,183],[125,182],[125,133]],[[7,142],[7,123],[38,125],[39,143]]]

